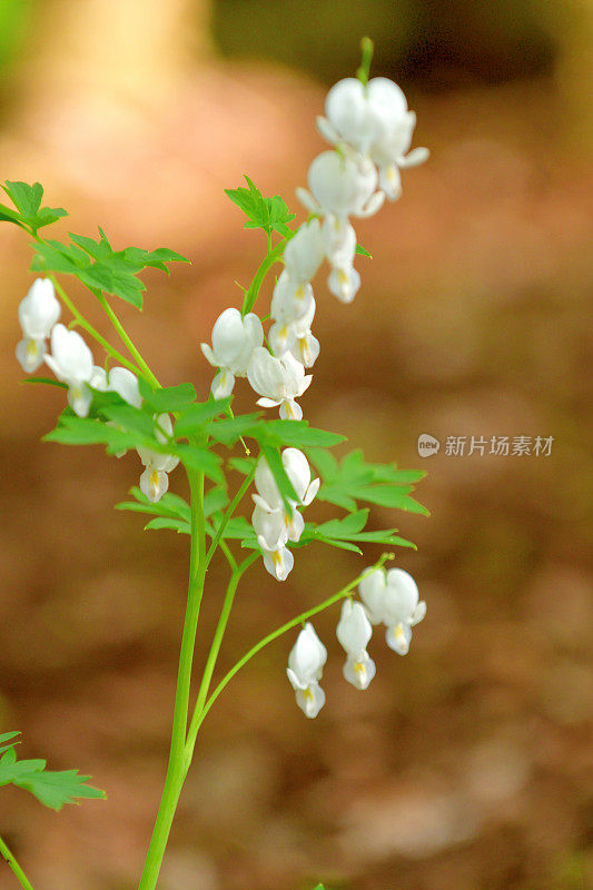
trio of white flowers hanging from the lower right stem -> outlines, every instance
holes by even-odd
[[[414,578],[402,568],[376,568],[358,585],[362,603],[348,599],[342,605],[336,636],[346,652],[344,678],[355,689],[367,689],[375,676],[376,665],[367,652],[373,624],[387,625],[387,645],[405,655],[409,647],[412,627],[426,614],[426,603],[419,601]],[[315,718],[325,704],[319,685],[327,661],[327,650],[307,622],[288,656],[287,675],[296,692],[298,706],[308,718]]]

